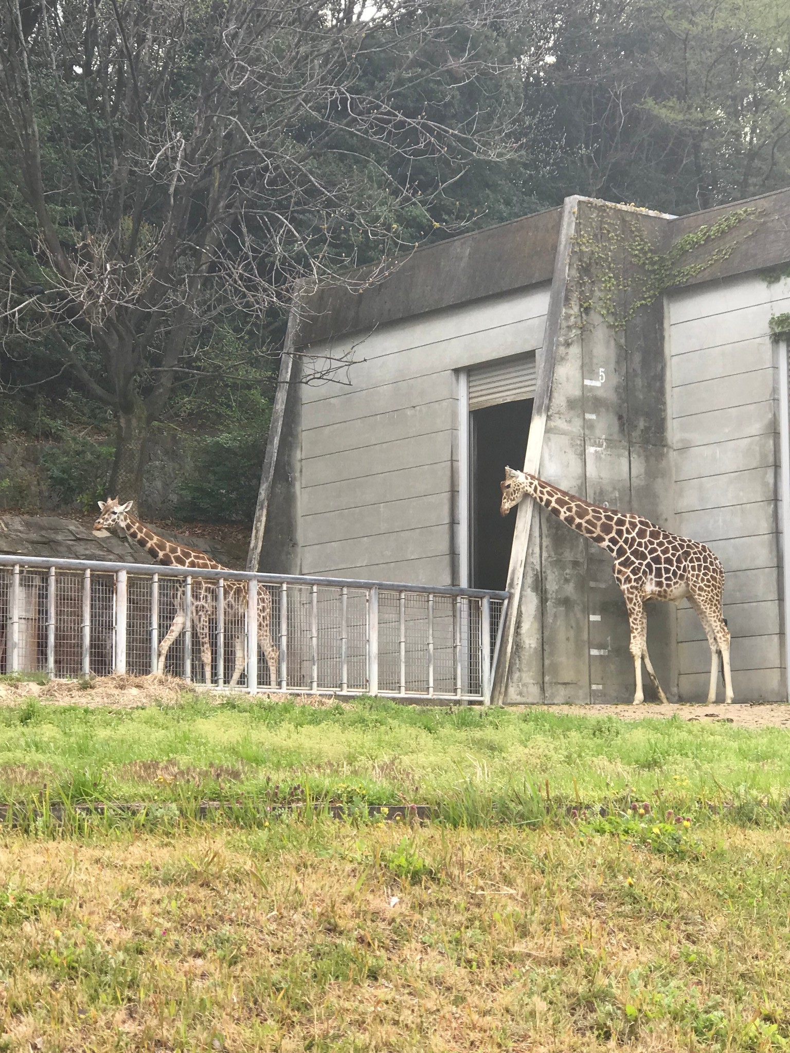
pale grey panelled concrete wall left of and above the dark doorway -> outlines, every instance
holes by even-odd
[[[307,376],[353,364],[292,393],[301,573],[458,583],[456,371],[539,347],[548,297],[542,283],[303,350]]]

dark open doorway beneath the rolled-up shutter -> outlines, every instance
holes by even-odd
[[[533,399],[474,410],[472,417],[472,588],[503,590],[516,526],[515,509],[499,515],[505,465],[524,468]]]

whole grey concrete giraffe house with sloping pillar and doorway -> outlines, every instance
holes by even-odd
[[[570,198],[319,290],[292,319],[262,569],[507,583],[495,699],[630,700],[609,557],[531,501],[498,515],[525,465],[709,543],[736,698],[787,698],[788,262],[790,191],[679,218]],[[704,699],[688,601],[648,613],[668,695]]]

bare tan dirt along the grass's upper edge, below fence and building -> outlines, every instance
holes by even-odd
[[[90,686],[76,680],[51,680],[48,683],[22,681],[20,683],[0,682],[0,706],[18,706],[29,696],[55,706],[110,706],[118,709],[135,709],[139,706],[173,706],[184,690],[183,680],[170,676],[107,676],[93,680]],[[200,690],[195,687],[193,690]],[[204,690],[204,689],[203,689]],[[218,692],[205,691],[217,701],[222,697]],[[244,697],[243,695],[241,697]],[[281,701],[288,695],[261,692],[260,698]],[[302,706],[318,709],[328,706],[349,706],[332,695],[300,695]],[[522,709],[522,707],[516,707]],[[527,707],[524,707],[527,709]],[[541,706],[547,713],[567,713],[573,716],[614,716],[621,720],[643,720],[646,717],[669,719],[677,714],[682,720],[715,723],[732,723],[738,728],[790,728],[790,704],[787,702],[733,702],[725,706],[670,704],[658,706]]]

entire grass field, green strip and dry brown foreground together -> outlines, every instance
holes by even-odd
[[[0,1049],[790,1049],[788,769],[787,731],[677,719],[0,709],[6,798],[181,806],[0,832]]]

